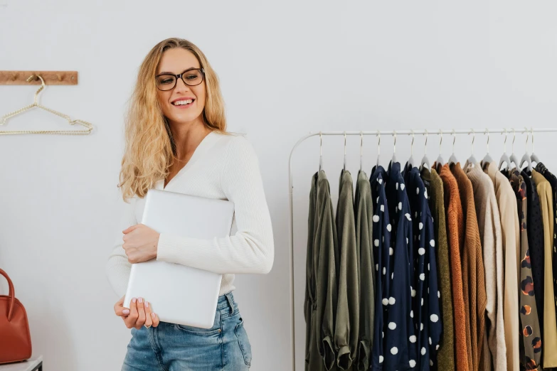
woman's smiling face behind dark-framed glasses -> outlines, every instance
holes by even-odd
[[[157,68],[157,84],[162,89],[174,85],[174,81],[169,76],[160,76],[164,73],[178,75],[184,72],[184,80],[189,83],[196,83],[196,78],[203,77],[200,70],[190,70],[201,68],[196,56],[184,48],[171,48],[166,50]],[[187,71],[187,72],[186,72]],[[197,76],[196,76],[197,74]],[[189,86],[184,80],[178,79],[174,89],[161,91],[157,89],[157,97],[161,105],[162,113],[169,119],[170,124],[188,124],[194,122],[203,123],[203,108],[205,107],[206,85],[205,79],[199,85]],[[168,87],[164,85],[170,84]]]

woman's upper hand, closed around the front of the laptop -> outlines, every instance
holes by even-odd
[[[144,224],[132,225],[124,233],[122,248],[130,263],[147,262],[157,257],[160,233]]]

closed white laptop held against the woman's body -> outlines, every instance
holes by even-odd
[[[230,235],[234,203],[167,190],[150,189],[142,224],[159,233],[211,240]],[[132,298],[149,301],[160,321],[211,328],[215,320],[222,274],[181,264],[132,264],[124,308]]]

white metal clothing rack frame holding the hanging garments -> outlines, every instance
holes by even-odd
[[[557,132],[557,128],[548,128],[548,129],[478,129],[477,131],[474,129],[470,130],[437,130],[437,131],[428,131],[428,130],[391,130],[391,131],[319,131],[317,133],[309,133],[305,136],[302,136],[297,143],[292,147],[292,151],[290,151],[290,158],[288,160],[288,194],[290,198],[290,213],[289,213],[289,229],[290,229],[290,341],[292,343],[292,371],[296,371],[296,353],[295,353],[295,305],[294,305],[294,206],[292,200],[292,191],[294,187],[292,185],[292,155],[294,154],[295,149],[302,141],[312,137],[312,136],[324,136],[324,135],[336,135],[336,136],[346,136],[348,135],[391,135],[396,138],[397,135],[442,135],[442,134],[498,134],[498,133],[505,133],[505,134],[528,134],[528,133],[544,133],[544,132]],[[346,144],[346,142],[345,142]],[[321,150],[321,149],[320,149]],[[345,146],[346,151],[346,146]],[[346,155],[346,153],[345,153]]]

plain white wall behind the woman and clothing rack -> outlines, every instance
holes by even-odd
[[[122,201],[117,175],[122,117],[137,68],[164,38],[189,38],[221,77],[229,129],[248,133],[260,158],[275,231],[267,276],[239,276],[235,295],[253,344],[253,370],[290,370],[287,161],[300,136],[319,130],[555,127],[554,1],[38,1],[0,0],[1,70],[78,70],[79,85],[48,87],[42,102],[95,124],[90,136],[0,138],[0,267],[28,311],[36,355],[48,370],[119,370],[129,330],[104,266]],[[0,114],[28,104],[33,87],[0,86]],[[42,112],[2,129],[67,124]],[[516,137],[517,156],[524,135]],[[494,158],[502,136],[492,136]],[[423,156],[423,136],[415,158]],[[456,153],[470,156],[468,136]],[[510,144],[510,139],[508,144]],[[557,171],[557,134],[535,136]],[[336,186],[343,139],[324,138]],[[399,136],[397,156],[409,156]],[[392,139],[381,141],[383,160]],[[442,153],[451,154],[445,136]],[[510,150],[510,145],[507,146]],[[428,154],[438,154],[430,136]],[[477,135],[482,158],[485,138]],[[364,169],[376,161],[364,139]],[[305,238],[309,178],[319,139],[295,154],[297,370],[303,369]],[[359,138],[348,139],[359,169]],[[4,292],[6,291],[6,285]],[[1,335],[0,335],[1,336]]]

